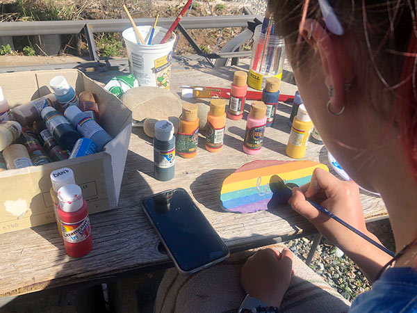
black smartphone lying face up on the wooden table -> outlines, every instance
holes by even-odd
[[[229,257],[229,248],[183,188],[145,198],[142,208],[180,273],[195,273]]]

